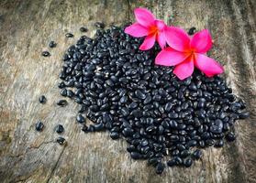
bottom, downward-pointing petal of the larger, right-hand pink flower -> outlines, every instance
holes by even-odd
[[[187,77],[191,76],[194,71],[194,61],[191,59],[186,59],[184,62],[175,66],[173,73],[180,79],[184,80]]]

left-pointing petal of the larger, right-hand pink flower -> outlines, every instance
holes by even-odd
[[[155,64],[162,66],[175,66],[186,59],[187,56],[180,51],[176,51],[173,48],[164,48],[157,55],[155,59]]]

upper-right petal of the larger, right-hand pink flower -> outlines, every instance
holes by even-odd
[[[197,53],[206,53],[212,47],[212,38],[207,29],[195,33],[191,40],[191,48]]]

